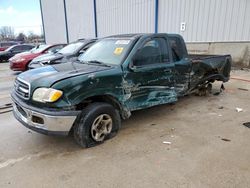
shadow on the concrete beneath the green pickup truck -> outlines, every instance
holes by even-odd
[[[206,104],[210,100],[216,100],[216,97],[212,95],[204,97],[189,95],[180,98],[176,104],[163,104],[143,110],[134,111],[131,118],[122,121],[121,130],[115,137],[116,141],[111,141],[113,143],[108,144],[104,143],[92,149],[89,148],[87,149],[87,151],[96,151],[96,149],[104,150],[106,147],[110,147],[110,144],[115,144],[114,142],[117,142],[117,144],[119,142],[123,142],[123,140],[127,139],[127,136],[130,134],[133,135],[137,134],[140,131],[148,131],[148,129],[152,129],[153,126],[157,125],[159,122],[161,122],[160,124],[162,124],[162,121],[164,121],[164,124],[166,124],[166,128],[171,128],[171,124],[167,124],[168,118],[171,118],[173,116],[176,118],[178,117],[176,114],[188,112],[191,104],[192,108],[196,108],[196,106],[198,108],[199,105]],[[32,142],[36,142],[37,145],[41,145],[42,143],[42,148],[50,150],[51,155],[54,155],[55,153],[60,153],[60,155],[70,155],[77,151],[86,151],[86,149],[82,149],[74,142],[72,136],[45,136],[34,132],[32,132],[32,135]],[[44,155],[44,157],[48,156],[50,155]]]

